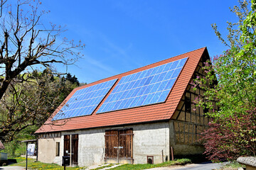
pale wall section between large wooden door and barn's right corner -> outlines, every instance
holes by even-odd
[[[147,156],[154,156],[154,164],[169,160],[169,123],[134,125],[134,164],[146,164]]]

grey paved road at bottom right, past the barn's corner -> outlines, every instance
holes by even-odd
[[[211,163],[206,162],[202,164],[187,164],[185,166],[175,166],[175,167],[159,167],[150,170],[213,170],[220,169],[222,163]]]

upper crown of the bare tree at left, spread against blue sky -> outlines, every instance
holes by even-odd
[[[73,64],[84,45],[63,38],[63,28],[50,23],[50,29],[41,23],[48,11],[40,11],[41,1],[17,1],[8,4],[1,0],[0,6],[0,99],[10,84],[25,81],[19,77],[26,69],[41,64]]]

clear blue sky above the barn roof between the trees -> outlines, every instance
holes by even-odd
[[[234,5],[238,1],[44,0],[42,7],[50,10],[44,22],[66,26],[63,36],[85,43],[83,59],[68,72],[91,83],[201,47],[220,55],[226,47],[210,24],[225,35],[226,22],[236,21]]]

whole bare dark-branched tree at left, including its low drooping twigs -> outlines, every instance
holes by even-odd
[[[60,38],[62,27],[41,23],[48,13],[40,9],[41,1],[8,3],[0,2],[0,138],[4,141],[13,140],[28,126],[41,125],[62,102],[56,91],[63,86],[48,77],[53,74],[38,78],[30,72],[37,66],[73,64],[84,48],[81,42]]]

